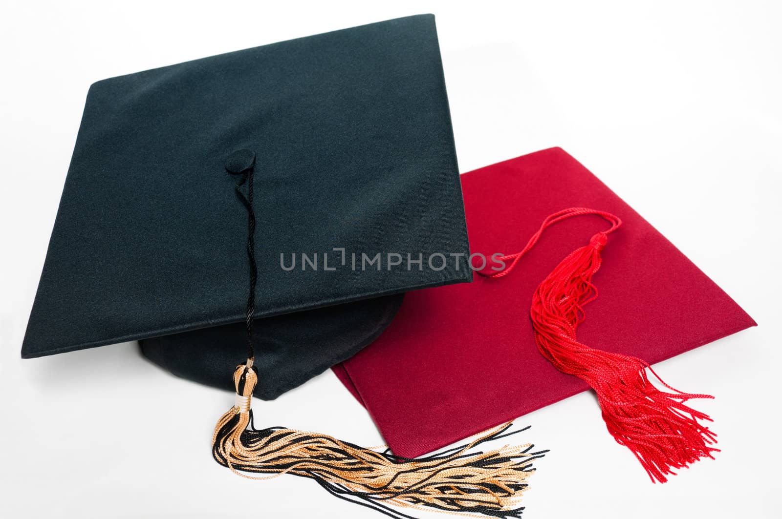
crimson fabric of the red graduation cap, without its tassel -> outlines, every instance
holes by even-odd
[[[461,182],[472,252],[486,256],[521,250],[563,207],[622,219],[601,252],[600,297],[585,309],[579,342],[657,363],[755,325],[561,149],[486,166]],[[548,228],[508,276],[408,293],[380,338],[335,367],[394,453],[420,456],[589,387],[540,355],[529,306],[551,270],[604,226],[598,216],[570,218]],[[670,382],[689,389],[687,381]]]

